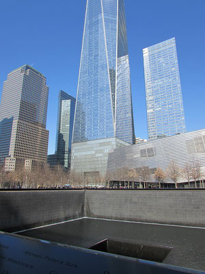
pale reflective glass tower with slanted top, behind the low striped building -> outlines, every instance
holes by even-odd
[[[143,49],[148,138],[186,132],[175,38]]]

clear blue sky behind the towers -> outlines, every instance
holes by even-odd
[[[0,95],[13,69],[47,78],[49,153],[55,150],[59,90],[76,96],[86,0],[0,1]],[[205,0],[125,0],[135,134],[147,138],[142,49],[176,37],[187,131],[204,128]]]

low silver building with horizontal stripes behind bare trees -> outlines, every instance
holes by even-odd
[[[127,171],[135,171],[134,180],[139,182],[143,181],[143,169],[148,171],[148,182],[156,182],[153,177],[156,168],[159,167],[166,173],[173,161],[181,170],[187,164],[197,164],[201,168],[201,179],[205,179],[205,129],[115,149],[109,153],[107,173],[111,180],[123,181],[128,179]],[[187,182],[182,172],[180,175],[178,182]],[[191,181],[193,180],[191,178]],[[164,182],[174,184],[167,176]]]

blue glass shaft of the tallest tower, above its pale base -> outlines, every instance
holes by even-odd
[[[72,142],[135,143],[124,0],[87,0]]]

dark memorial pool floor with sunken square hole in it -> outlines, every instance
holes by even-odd
[[[83,218],[17,234],[205,271],[203,228]]]

